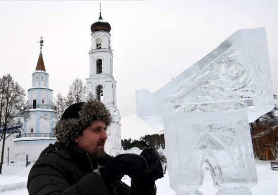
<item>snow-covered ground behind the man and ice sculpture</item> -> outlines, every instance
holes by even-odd
[[[271,170],[269,162],[257,161],[256,162],[258,184],[254,186],[251,191],[253,195],[275,195],[277,194],[278,183],[278,169]],[[7,164],[3,165],[3,171],[0,175],[0,194],[2,195],[27,195],[26,188],[28,173],[31,165],[27,168],[25,165]],[[127,184],[130,179],[125,176],[123,181]],[[159,179],[157,182],[157,195],[174,195],[175,192],[169,187],[168,172],[164,178]],[[199,188],[204,195],[214,195],[217,189],[212,184],[209,171],[205,174],[203,185]]]

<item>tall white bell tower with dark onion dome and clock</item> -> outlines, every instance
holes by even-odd
[[[112,115],[111,126],[107,129],[108,139],[105,150],[121,149],[121,117],[117,108],[116,84],[113,77],[113,53],[110,46],[111,26],[102,19],[91,25],[90,68],[87,90],[109,109]]]

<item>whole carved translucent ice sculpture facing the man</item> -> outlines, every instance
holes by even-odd
[[[252,194],[248,123],[273,107],[265,28],[236,31],[153,94],[136,91],[137,116],[164,129],[170,187],[180,195],[202,194],[203,165],[216,194]]]

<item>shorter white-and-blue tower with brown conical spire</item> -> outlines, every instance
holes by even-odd
[[[23,119],[23,131],[14,139],[15,161],[36,161],[40,152],[50,143],[55,143],[53,127],[57,112],[52,106],[52,92],[49,88],[49,74],[40,50],[32,87],[28,90],[29,118]]]

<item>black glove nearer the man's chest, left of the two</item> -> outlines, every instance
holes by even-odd
[[[116,182],[121,180],[124,175],[140,180],[149,172],[149,167],[141,155],[126,153],[112,158],[105,167],[101,166],[98,171],[107,186],[113,191]]]

